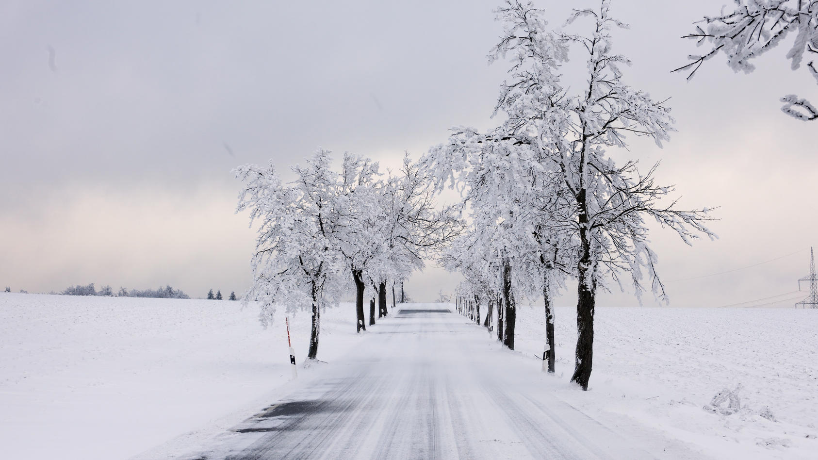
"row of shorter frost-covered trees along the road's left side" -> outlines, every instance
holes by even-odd
[[[463,228],[456,207],[436,209],[431,178],[404,156],[399,171],[380,173],[368,159],[344,155],[340,171],[330,151],[318,149],[296,179],[283,183],[275,166],[244,165],[245,183],[236,212],[258,222],[252,259],[254,282],[244,301],[258,300],[264,325],[276,308],[312,311],[308,359],[316,359],[321,309],[355,291],[357,331],[366,330],[364,291],[377,292],[379,316],[387,312],[387,289],[400,286],[424,259]],[[375,308],[369,324],[375,324]]]

